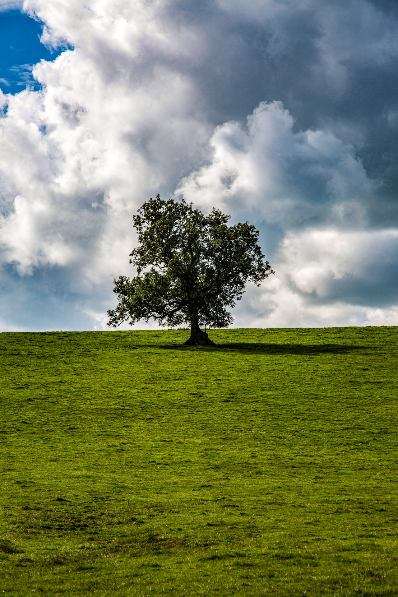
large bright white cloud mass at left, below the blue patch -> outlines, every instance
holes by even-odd
[[[101,74],[78,50],[66,51],[36,65],[44,93],[7,98],[1,238],[21,273],[81,263],[101,247],[112,252],[109,243],[118,246],[131,228],[127,215],[178,177],[184,153],[200,155],[205,125],[190,113],[189,82],[158,69],[134,89]]]

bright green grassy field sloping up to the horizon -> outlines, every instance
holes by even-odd
[[[0,334],[0,595],[398,595],[398,328]]]

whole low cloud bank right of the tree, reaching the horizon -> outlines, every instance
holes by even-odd
[[[290,232],[273,266],[236,307],[242,326],[398,325],[397,229]]]

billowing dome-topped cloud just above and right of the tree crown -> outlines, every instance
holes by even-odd
[[[215,130],[212,162],[183,179],[177,193],[207,209],[217,204],[257,214],[286,229],[337,221],[362,225],[377,184],[329,131],[294,133],[282,103],[261,103],[247,130],[227,122]]]

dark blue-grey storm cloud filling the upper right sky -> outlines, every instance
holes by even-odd
[[[185,56],[148,52],[188,76],[213,125],[282,101],[294,130],[326,128],[352,144],[382,183],[369,205],[377,226],[398,212],[398,11],[389,2],[174,3],[165,22],[197,39]],[[317,193],[314,187],[314,193]]]

